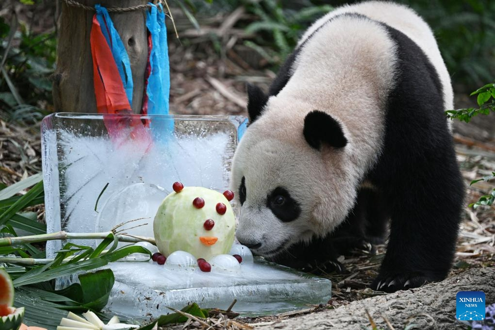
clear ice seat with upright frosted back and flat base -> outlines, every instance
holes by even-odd
[[[232,156],[246,123],[243,116],[49,115],[42,123],[48,231],[105,232],[133,221],[121,228],[153,237],[154,215],[175,181],[229,188]],[[62,243],[50,241],[48,257]],[[188,302],[227,308],[234,299],[233,310],[243,315],[274,314],[325,303],[331,293],[327,279],[261,259],[244,261],[236,272],[172,270],[132,256],[109,267],[116,282],[107,307],[138,319]]]

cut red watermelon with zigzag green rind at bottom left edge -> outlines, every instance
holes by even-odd
[[[24,307],[12,307],[14,285],[5,270],[0,269],[0,330],[17,330],[24,318]]]

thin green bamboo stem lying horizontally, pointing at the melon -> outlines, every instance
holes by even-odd
[[[36,243],[45,242],[47,240],[55,239],[104,239],[106,236],[113,234],[117,236],[120,242],[150,242],[155,244],[155,240],[152,237],[144,236],[130,236],[128,234],[115,234],[113,232],[102,232],[102,233],[67,233],[64,231],[43,234],[43,235],[32,235],[32,236],[20,236],[20,237],[4,237],[0,238],[0,246],[10,246],[15,244],[25,244],[25,243]]]

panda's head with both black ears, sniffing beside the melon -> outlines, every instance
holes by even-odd
[[[335,118],[303,101],[268,99],[253,88],[248,94],[250,125],[232,165],[241,205],[236,236],[273,257],[337,227],[354,202],[355,180],[345,128]]]

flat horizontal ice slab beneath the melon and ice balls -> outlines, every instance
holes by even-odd
[[[152,261],[113,262],[115,284],[105,309],[136,320],[170,313],[196,302],[201,308],[232,308],[241,316],[273,315],[327,303],[332,283],[255,258],[241,263],[240,272],[198,268],[169,270]],[[138,272],[138,274],[136,274]]]

